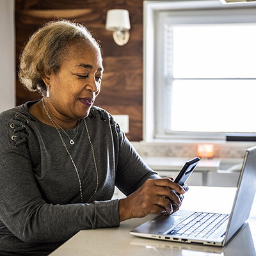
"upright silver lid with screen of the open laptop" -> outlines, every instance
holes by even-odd
[[[237,184],[237,191],[232,207],[227,234],[223,245],[228,241],[243,223],[249,218],[256,192],[256,147],[248,148]],[[223,195],[225,197],[225,195]]]

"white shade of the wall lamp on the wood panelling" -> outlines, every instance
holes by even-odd
[[[124,9],[108,10],[106,29],[110,31],[116,31],[118,28],[122,28],[122,30],[131,29],[129,12]]]

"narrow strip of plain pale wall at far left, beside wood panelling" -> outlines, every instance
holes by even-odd
[[[15,106],[15,0],[0,0],[0,112]]]

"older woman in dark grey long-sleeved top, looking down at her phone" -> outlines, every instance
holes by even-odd
[[[184,188],[160,179],[93,106],[102,73],[100,47],[79,24],[50,22],[29,39],[19,77],[43,97],[0,115],[2,254],[44,255],[81,229],[180,204],[173,190]],[[111,200],[115,185],[127,197]]]

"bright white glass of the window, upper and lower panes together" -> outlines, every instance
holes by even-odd
[[[170,127],[255,132],[256,24],[172,26]],[[170,74],[167,74],[170,77]],[[195,119],[195,113],[198,118]]]

